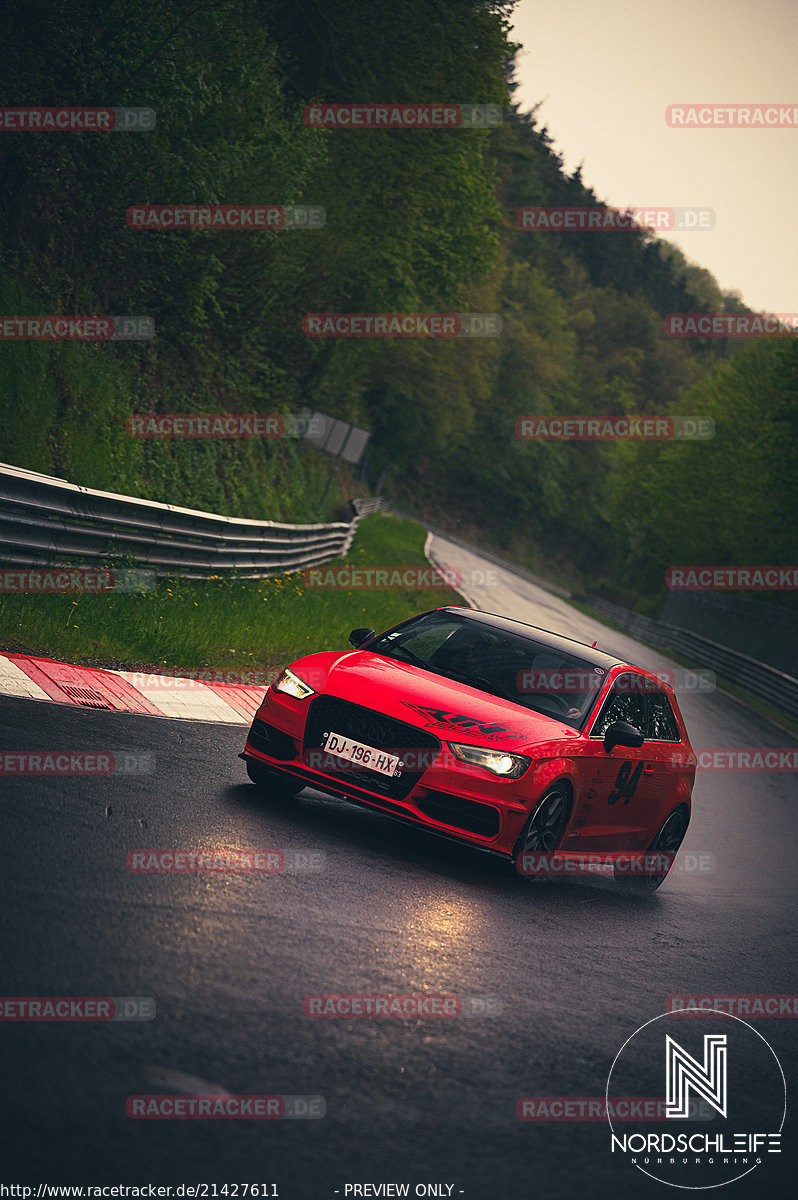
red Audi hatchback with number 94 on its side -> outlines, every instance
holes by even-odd
[[[672,688],[469,608],[379,635],[355,629],[349,641],[292,662],[266,691],[240,756],[256,785],[367,804],[521,874],[608,863],[629,886],[659,887],[696,769]]]

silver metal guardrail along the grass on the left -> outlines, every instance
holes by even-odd
[[[0,463],[0,562],[13,566],[133,559],[157,575],[262,578],[346,554],[359,515],[330,524],[247,521],[79,487]]]

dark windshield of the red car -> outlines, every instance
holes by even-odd
[[[584,721],[607,677],[604,667],[534,636],[454,613],[427,613],[376,637],[367,649],[470,684],[574,728]]]

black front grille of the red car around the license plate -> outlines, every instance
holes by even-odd
[[[364,770],[354,763],[336,760],[335,774],[340,773],[342,782],[388,796],[394,800],[403,800],[408,796],[440,751],[440,742],[433,733],[416,730],[414,725],[396,721],[391,716],[374,713],[371,708],[353,704],[337,696],[317,696],[311,702],[305,725],[305,751],[318,750],[325,733],[341,733],[376,750],[388,750],[389,754],[397,754],[400,757],[407,756],[410,766],[398,776]],[[326,758],[326,755],[324,757]],[[312,758],[308,763],[312,764]]]

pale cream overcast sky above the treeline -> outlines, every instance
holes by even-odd
[[[521,0],[512,23],[515,98],[544,101],[566,170],[612,205],[714,209],[713,230],[664,236],[751,308],[798,313],[798,127],[665,121],[682,102],[798,109],[798,0]]]

